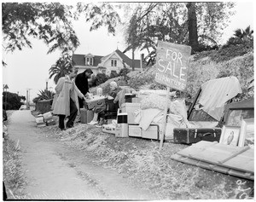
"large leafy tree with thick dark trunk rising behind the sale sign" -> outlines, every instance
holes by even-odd
[[[231,11],[234,3],[157,3],[154,9],[147,12],[148,7],[137,6],[131,16],[131,19],[137,19],[137,23],[127,23],[126,31],[128,36],[130,32],[137,31],[136,36],[143,43],[134,43],[132,38],[127,38],[127,43],[134,43],[137,49],[149,49],[146,59],[150,61],[154,61],[155,56],[154,38],[189,44],[195,51],[200,48],[199,38],[200,42],[207,39],[216,45],[230,15],[234,14]],[[137,12],[139,9],[140,13]],[[147,14],[143,15],[143,12]],[[137,26],[137,29],[131,26]]]

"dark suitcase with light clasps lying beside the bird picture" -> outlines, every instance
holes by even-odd
[[[174,128],[173,141],[192,144],[198,141],[219,141],[221,128]]]

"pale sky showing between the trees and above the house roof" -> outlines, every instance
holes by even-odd
[[[245,29],[251,26],[255,19],[253,16],[253,2],[236,2],[236,14],[230,19],[230,26],[224,30],[223,43],[230,38],[237,28]],[[97,31],[90,32],[90,25],[86,25],[83,20],[74,22],[74,30],[77,32],[80,46],[75,54],[108,55],[115,49],[124,50],[125,42],[121,32],[116,36],[108,34],[107,29],[102,27]],[[3,61],[8,65],[3,67],[3,84],[8,84],[9,92],[26,96],[29,92],[29,100],[39,93],[39,90],[46,88],[46,78],[49,78],[49,68],[60,57],[60,52],[56,51],[47,55],[48,47],[41,41],[32,39],[32,49],[15,50],[13,53],[3,51]],[[126,54],[131,58],[131,52]],[[140,53],[135,55],[139,59]],[[52,79],[48,82],[50,90],[54,90],[55,84]],[[3,89],[2,89],[3,90]]]

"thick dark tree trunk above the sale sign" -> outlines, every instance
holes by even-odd
[[[195,2],[189,2],[186,4],[186,6],[188,9],[189,21],[189,45],[192,47],[192,52],[195,52],[199,50]]]

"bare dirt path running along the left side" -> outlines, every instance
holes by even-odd
[[[156,199],[81,151],[42,134],[30,111],[15,111],[9,120],[9,138],[20,144],[27,199]]]

